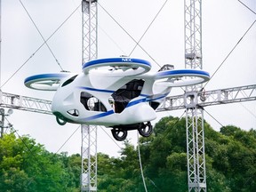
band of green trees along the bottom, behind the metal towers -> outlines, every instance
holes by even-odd
[[[148,191],[188,191],[186,119],[164,117],[140,138]],[[204,122],[207,191],[256,191],[256,131]],[[124,141],[119,157],[98,154],[99,192],[145,191],[138,146]],[[28,135],[0,140],[1,191],[80,191],[81,156],[52,154]]]

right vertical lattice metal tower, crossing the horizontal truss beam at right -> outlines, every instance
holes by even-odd
[[[185,68],[203,68],[202,3],[185,0]],[[186,87],[188,191],[206,191],[204,110],[197,107],[202,84]]]

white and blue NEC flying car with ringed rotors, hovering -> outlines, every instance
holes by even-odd
[[[25,79],[28,88],[55,91],[52,114],[58,124],[96,124],[112,128],[116,140],[138,130],[148,137],[156,108],[172,87],[202,84],[209,73],[196,69],[150,71],[147,60],[108,58],[84,63],[82,73],[41,74]],[[192,77],[192,78],[188,78]]]

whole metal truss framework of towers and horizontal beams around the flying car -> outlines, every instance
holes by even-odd
[[[185,0],[186,68],[203,68],[201,13],[201,0]],[[97,59],[97,0],[82,0],[82,14],[82,61],[84,63],[88,60]],[[204,92],[202,88],[202,84],[197,86],[189,86],[186,88],[185,94],[167,97],[164,100],[164,103],[157,108],[158,112],[186,108],[188,191],[196,192],[206,191],[204,159],[204,107],[256,100],[256,84],[208,92]],[[41,100],[0,91],[0,108],[13,108],[52,115],[51,107],[52,101],[50,100]],[[4,116],[3,112],[2,115]],[[2,124],[2,127],[4,127],[4,124]],[[88,126],[83,124],[81,132],[81,191],[97,191],[97,126]]]

